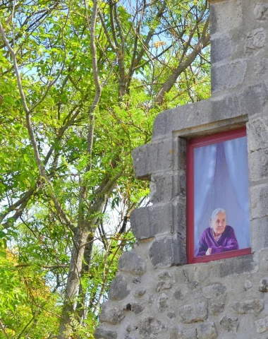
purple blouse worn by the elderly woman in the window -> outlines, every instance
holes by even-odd
[[[224,232],[219,237],[218,241],[215,240],[213,230],[207,227],[203,232],[199,242],[199,250],[197,256],[205,256],[207,249],[212,249],[212,254],[218,254],[226,251],[233,251],[238,249],[238,241],[233,227],[226,226]]]

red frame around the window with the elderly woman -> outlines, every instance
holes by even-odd
[[[251,248],[237,249],[235,251],[224,252],[222,254],[210,254],[209,256],[194,257],[194,150],[213,143],[221,143],[236,138],[247,136],[246,128],[235,129],[221,132],[212,136],[202,138],[193,138],[187,144],[187,230],[186,230],[186,252],[188,263],[206,263],[208,261],[219,260],[223,258],[232,258],[233,256],[244,256],[251,254]]]

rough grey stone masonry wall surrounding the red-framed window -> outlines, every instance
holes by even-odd
[[[133,152],[152,206],[133,211],[96,339],[268,338],[268,1],[212,0],[212,97],[169,109]],[[252,254],[186,264],[186,141],[247,126]]]

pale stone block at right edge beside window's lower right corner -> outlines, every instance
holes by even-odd
[[[257,218],[251,221],[252,251],[268,247],[268,218]]]

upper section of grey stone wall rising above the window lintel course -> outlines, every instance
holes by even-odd
[[[231,93],[268,73],[268,2],[213,0],[212,93]]]

